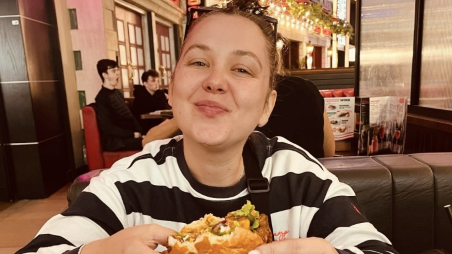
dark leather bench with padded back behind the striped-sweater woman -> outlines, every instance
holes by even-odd
[[[452,153],[335,157],[320,162],[353,188],[367,219],[400,254],[428,249],[452,253],[452,225],[443,208],[452,204]],[[82,175],[72,184],[69,203],[90,177]]]

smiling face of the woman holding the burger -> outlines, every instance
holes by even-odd
[[[273,109],[264,34],[252,21],[217,14],[189,34],[169,103],[184,136],[216,147],[246,140]]]

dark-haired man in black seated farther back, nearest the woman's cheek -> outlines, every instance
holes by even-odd
[[[154,126],[163,122],[163,119],[141,119],[142,114],[154,112],[156,110],[170,109],[168,99],[166,99],[168,91],[159,89],[159,73],[155,70],[149,70],[141,75],[143,85],[133,86],[133,116],[138,120],[146,133]]]

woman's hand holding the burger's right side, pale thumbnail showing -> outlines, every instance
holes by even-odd
[[[338,254],[338,252],[327,240],[309,237],[260,245],[249,254]]]

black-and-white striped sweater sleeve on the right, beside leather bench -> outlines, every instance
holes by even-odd
[[[386,236],[361,213],[352,188],[323,169],[317,174],[325,174],[329,187],[312,217],[307,237],[328,240],[339,254],[398,254]]]

